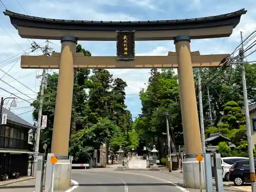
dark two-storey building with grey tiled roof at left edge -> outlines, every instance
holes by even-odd
[[[33,154],[28,137],[34,126],[7,109],[3,114],[7,114],[7,123],[0,126],[0,175],[27,175],[29,156]]]

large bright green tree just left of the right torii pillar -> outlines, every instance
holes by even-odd
[[[183,144],[177,76],[173,70],[151,70],[145,90],[140,92],[142,113],[135,120],[138,136],[151,145],[159,146],[159,138],[166,133],[166,112],[169,114],[172,140]],[[180,143],[179,143],[180,142]],[[160,148],[160,146],[159,146]]]

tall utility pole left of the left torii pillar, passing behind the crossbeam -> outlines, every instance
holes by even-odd
[[[44,50],[44,56],[49,55],[49,41],[47,40],[47,46]],[[35,154],[34,154],[34,163],[33,163],[33,174],[32,176],[36,176],[36,167],[37,167],[37,157],[39,151],[39,141],[40,141],[40,133],[41,133],[41,119],[42,119],[42,104],[44,101],[44,91],[45,91],[45,83],[46,83],[46,70],[42,70],[42,80],[41,80],[41,88],[40,88],[40,100],[39,100],[39,110],[38,110],[38,118],[37,118],[37,127],[36,127],[36,138],[35,138]]]

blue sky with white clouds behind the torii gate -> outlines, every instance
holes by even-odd
[[[245,8],[248,10],[242,16],[240,24],[234,29],[233,34],[227,38],[201,39],[191,41],[191,51],[199,50],[201,54],[222,54],[231,53],[240,42],[240,31],[244,36],[250,34],[256,28],[256,2],[255,0],[2,0],[6,8],[13,12],[28,14],[38,17],[76,19],[76,20],[165,20],[184,19],[212,16],[229,13]],[[1,11],[4,11],[0,7]],[[15,79],[26,84],[24,87],[19,82],[13,80],[8,75],[0,71],[0,79],[9,82],[11,88],[3,81],[0,86],[17,96],[29,100],[28,102],[18,100],[18,107],[12,109],[16,114],[29,122],[33,122],[31,117],[32,108],[29,102],[35,98],[35,93],[39,89],[39,80],[36,78],[41,73],[40,70],[21,69],[19,67],[19,55],[3,62],[4,60],[23,52],[30,48],[28,39],[20,38],[17,31],[10,24],[10,20],[4,14],[0,14],[0,66],[1,69],[12,75]],[[45,46],[45,40],[35,40],[40,46]],[[51,41],[50,46],[55,50],[60,50],[59,41]],[[89,50],[93,56],[115,56],[116,42],[81,41],[83,48]],[[136,42],[136,55],[166,55],[168,51],[174,51],[173,41],[139,41]],[[30,55],[38,55],[35,52]],[[248,57],[248,60],[256,60],[255,54]],[[133,117],[138,116],[141,103],[138,93],[145,87],[149,77],[149,70],[110,70],[114,77],[120,77],[128,84],[126,89],[126,105]],[[5,75],[5,76],[3,76]],[[2,77],[3,76],[3,77]],[[22,93],[27,94],[27,96]],[[11,94],[0,91],[0,95],[10,97]],[[8,101],[8,100],[7,100]],[[10,105],[10,102],[5,106]],[[27,113],[26,113],[27,112]],[[24,113],[24,114],[22,114]]]

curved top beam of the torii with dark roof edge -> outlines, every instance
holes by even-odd
[[[72,35],[78,40],[115,41],[116,30],[135,30],[135,40],[173,40],[178,35],[191,39],[227,37],[247,11],[217,16],[137,22],[63,20],[23,15],[6,10],[12,25],[23,38],[55,39]]]

